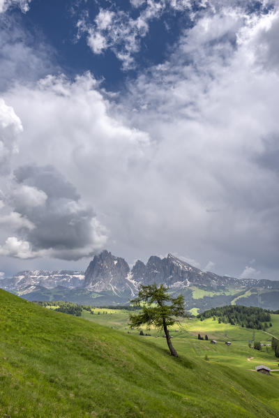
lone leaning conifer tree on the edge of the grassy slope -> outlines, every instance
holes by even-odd
[[[140,306],[142,312],[137,315],[130,313],[129,325],[130,328],[139,328],[142,324],[146,324],[148,329],[152,325],[163,329],[170,354],[179,357],[174,350],[167,327],[177,322],[176,317],[185,316],[184,299],[182,294],[175,298],[170,297],[167,290],[164,285],[158,287],[155,283],[148,286],[141,285],[139,294],[130,303]]]

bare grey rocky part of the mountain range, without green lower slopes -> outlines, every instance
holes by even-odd
[[[144,285],[165,284],[174,292],[186,290],[191,285],[202,286],[202,288],[204,286],[218,287],[224,290],[227,287],[245,289],[257,286],[264,289],[279,289],[279,281],[218,276],[209,271],[197,269],[172,254],[163,259],[153,255],[146,264],[137,260],[130,271],[123,258],[115,257],[108,251],[103,251],[93,258],[85,275],[79,271],[21,271],[13,278],[1,279],[0,288],[15,291],[18,294],[29,294],[36,290],[50,290],[63,286],[67,288],[65,289],[67,295],[68,290],[74,292],[80,288],[86,292],[108,292],[110,297],[115,297],[118,301],[128,301],[135,297],[140,283]],[[59,290],[58,297],[61,297],[60,295]]]

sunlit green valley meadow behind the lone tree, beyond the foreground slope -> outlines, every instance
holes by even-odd
[[[107,314],[103,314],[106,312]],[[100,312],[100,315],[98,315]],[[103,308],[94,309],[91,315],[83,312],[82,316],[87,320],[91,320],[98,324],[112,327],[129,334],[138,335],[139,330],[130,330],[128,327],[128,311],[106,310]],[[272,336],[279,337],[279,315],[271,315],[273,327],[267,332],[258,331],[257,329],[241,328],[231,324],[218,324],[217,320],[212,318],[200,321],[197,318],[184,319],[181,318],[180,324],[171,328],[174,347],[186,356],[198,359],[204,359],[205,355],[211,361],[218,364],[232,364],[243,368],[255,368],[259,364],[269,366],[271,369],[279,369],[279,359],[276,359],[271,347],[265,346],[261,351],[249,348],[248,343],[252,345],[252,341],[260,341],[264,344],[270,344]],[[151,337],[144,336],[145,340],[150,340],[164,348],[166,345],[163,338],[163,332],[156,329],[146,329],[142,327],[144,334],[151,334]],[[210,341],[199,341],[197,335],[207,335],[209,340],[216,340],[217,344],[211,344]],[[232,345],[225,345],[226,341],[230,341]],[[253,357],[252,359],[250,357]],[[248,360],[249,359],[249,360]],[[278,372],[279,378],[279,372]]]

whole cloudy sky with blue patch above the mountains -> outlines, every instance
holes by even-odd
[[[279,279],[278,0],[0,0],[0,276]]]

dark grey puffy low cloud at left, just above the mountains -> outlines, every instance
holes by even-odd
[[[22,239],[9,237],[0,254],[19,258],[51,256],[77,260],[103,248],[107,231],[80,200],[73,184],[52,166],[26,165],[15,170],[19,185],[11,194],[10,223]]]

